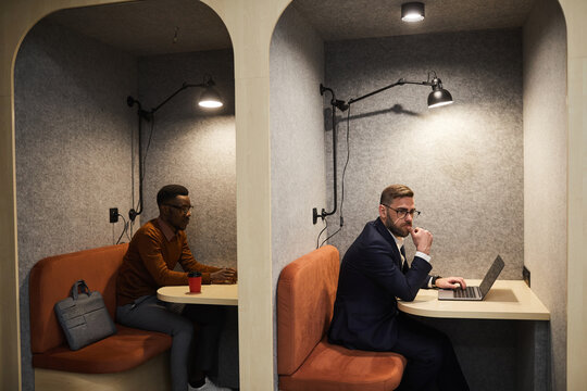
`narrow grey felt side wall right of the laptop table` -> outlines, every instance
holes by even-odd
[[[537,0],[524,25],[524,264],[550,311],[554,390],[566,388],[569,167],[566,25],[560,5]],[[544,93],[548,91],[548,93]],[[545,207],[548,205],[548,207]],[[548,222],[548,224],[545,224]],[[548,240],[545,240],[548,238]],[[559,287],[553,289],[553,287]]]

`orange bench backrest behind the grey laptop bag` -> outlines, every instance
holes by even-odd
[[[99,291],[114,319],[116,275],[128,244],[109,245],[46,257],[33,267],[29,279],[30,349],[42,353],[65,343],[53,306],[70,295],[78,279]]]

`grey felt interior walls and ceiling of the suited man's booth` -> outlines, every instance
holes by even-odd
[[[273,287],[288,263],[316,247],[334,244],[344,255],[377,217],[380,191],[405,184],[422,211],[416,224],[434,234],[434,274],[480,279],[501,254],[500,278],[521,280],[528,269],[532,290],[550,311],[550,321],[537,323],[422,318],[452,339],[471,388],[563,390],[567,43],[561,7],[555,0],[425,2],[419,24],[401,21],[401,4],[294,0],[276,24]],[[428,109],[429,90],[413,85],[353,102],[400,78],[430,75],[453,104]],[[339,105],[333,116],[335,97],[321,84],[350,109]],[[314,224],[313,209],[335,213]]]

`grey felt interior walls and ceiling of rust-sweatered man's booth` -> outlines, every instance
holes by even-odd
[[[222,108],[196,104],[210,80]],[[158,190],[180,184],[196,260],[237,267],[230,37],[199,1],[54,12],[20,47],[14,113],[22,384],[34,390],[28,276],[39,260],[128,242],[158,216]],[[218,376],[238,388],[236,306],[228,314]]]

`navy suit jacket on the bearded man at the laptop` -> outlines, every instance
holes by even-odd
[[[416,256],[401,270],[401,255],[377,218],[351,244],[338,278],[328,341],[348,349],[390,351],[397,341],[398,302],[413,301],[432,266]]]

